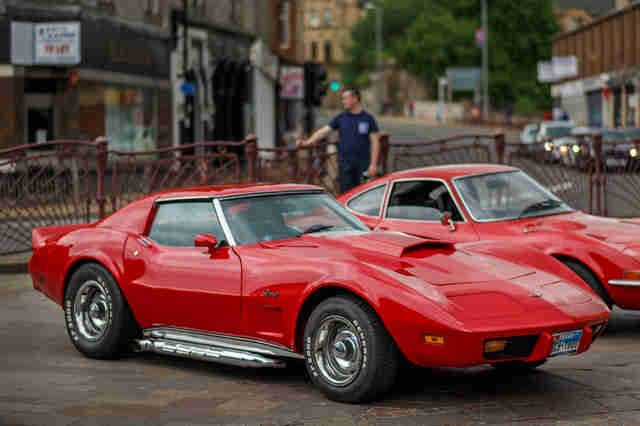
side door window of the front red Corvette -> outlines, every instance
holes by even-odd
[[[172,247],[194,247],[198,234],[226,241],[211,200],[161,203],[156,207],[149,238]]]

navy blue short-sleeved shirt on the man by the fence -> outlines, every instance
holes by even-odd
[[[329,127],[340,134],[338,161],[342,164],[369,164],[369,135],[378,132],[375,118],[365,110],[358,114],[344,111],[336,115]]]

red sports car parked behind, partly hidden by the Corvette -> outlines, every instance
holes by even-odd
[[[338,201],[373,229],[526,244],[573,270],[609,307],[640,309],[640,220],[576,211],[517,168],[473,164],[396,172]]]

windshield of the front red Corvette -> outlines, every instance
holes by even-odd
[[[222,211],[238,245],[368,228],[330,195],[287,193],[223,200]]]

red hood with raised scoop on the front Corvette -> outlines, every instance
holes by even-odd
[[[269,250],[269,264],[298,262],[304,252],[305,266],[313,274],[323,271],[317,279],[388,280],[413,289],[462,321],[529,317],[541,311],[563,318],[606,312],[586,287],[486,254],[486,245],[466,247],[402,233],[360,231],[260,245],[274,249]]]

